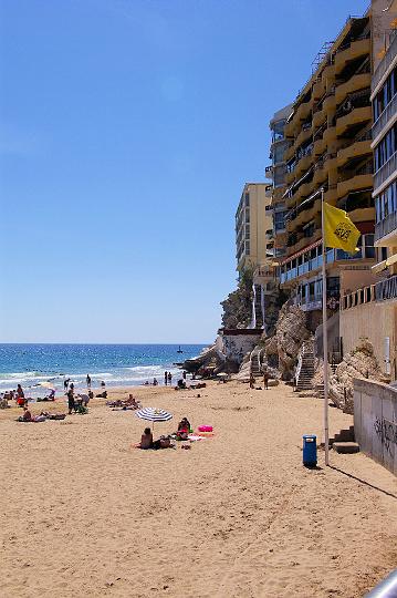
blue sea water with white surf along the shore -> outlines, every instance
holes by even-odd
[[[206,346],[181,344],[0,344],[0,391],[21,384],[27,395],[45,394],[39,384],[51,382],[63,391],[66,378],[76,390],[92,386],[130,386],[153,382],[164,383],[164,372],[170,371],[173,382],[180,374],[177,363],[199,354]],[[59,395],[60,392],[56,392]]]

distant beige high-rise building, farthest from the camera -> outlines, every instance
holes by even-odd
[[[245,183],[236,213],[237,269],[255,269],[272,261],[271,192],[265,183]]]

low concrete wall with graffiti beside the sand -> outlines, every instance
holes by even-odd
[[[397,389],[354,381],[354,434],[363,453],[397,475]]]

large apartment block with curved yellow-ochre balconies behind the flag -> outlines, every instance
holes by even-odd
[[[324,44],[313,74],[297,95],[284,133],[286,190],[286,257],[280,282],[295,289],[303,310],[322,306],[321,189],[325,202],[345,209],[361,230],[359,251],[326,252],[330,307],[337,308],[341,290],[372,280],[375,264],[373,198],[373,115],[370,81],[374,64],[374,16],[351,17],[335,41]]]

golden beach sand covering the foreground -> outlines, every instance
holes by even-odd
[[[363,454],[302,466],[322,401],[238,382],[133,392],[174,414],[156,435],[186,415],[215,437],[130,448],[145,422],[100,401],[64,422],[0,412],[3,598],[358,598],[397,567],[396,477]],[[331,434],[352,424],[330,419]]]

